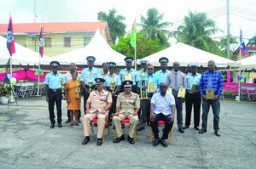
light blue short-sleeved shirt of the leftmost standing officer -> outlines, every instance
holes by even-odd
[[[49,72],[45,76],[44,84],[48,85],[50,89],[55,90],[57,88],[61,88],[61,85],[65,84],[65,79],[64,76],[59,72],[56,74]]]

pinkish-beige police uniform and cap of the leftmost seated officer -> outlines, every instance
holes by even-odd
[[[96,78],[95,81],[97,84],[103,84],[105,82],[102,78]],[[84,137],[89,137],[90,134],[90,121],[97,117],[97,138],[102,138],[103,130],[105,127],[105,119],[108,117],[108,110],[105,114],[101,114],[102,110],[106,108],[108,103],[112,103],[111,93],[106,90],[102,90],[99,93],[97,90],[94,90],[90,93],[87,102],[90,103],[90,113],[84,115]]]

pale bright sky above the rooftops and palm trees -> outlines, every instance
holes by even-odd
[[[213,38],[226,36],[226,0],[0,0],[0,24],[7,24],[9,14],[13,23],[32,23],[36,2],[36,22],[78,22],[96,21],[100,11],[108,13],[116,8],[125,16],[127,31],[135,18],[146,16],[148,8],[157,8],[164,14],[163,21],[170,21],[173,31],[183,24],[183,18],[191,12],[206,12],[215,20],[218,29]],[[1,25],[0,25],[1,26]],[[239,37],[240,29],[245,42],[256,35],[256,0],[230,0],[230,34]]]

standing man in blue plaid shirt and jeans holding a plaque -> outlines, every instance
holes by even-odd
[[[207,118],[210,105],[213,112],[213,129],[216,136],[220,136],[218,123],[219,123],[219,96],[222,93],[224,80],[221,72],[215,70],[215,62],[210,60],[208,62],[208,70],[201,76],[200,93],[202,98],[202,124],[199,133],[207,132]]]

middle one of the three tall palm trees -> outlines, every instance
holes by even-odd
[[[158,9],[148,8],[147,17],[141,15],[141,23],[137,24],[151,39],[159,38],[161,44],[165,44],[167,37],[170,37],[170,31],[167,31],[166,27],[172,25],[172,22],[161,22],[163,16],[164,14],[160,14]]]

